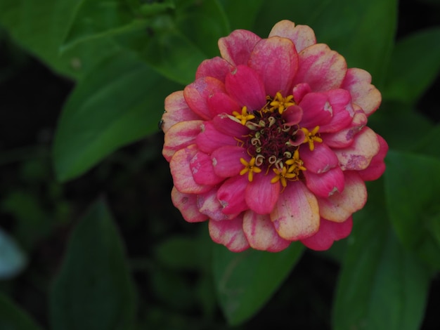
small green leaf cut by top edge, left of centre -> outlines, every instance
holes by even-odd
[[[127,1],[82,0],[63,41],[63,48],[88,39],[142,29],[145,21],[136,18]]]

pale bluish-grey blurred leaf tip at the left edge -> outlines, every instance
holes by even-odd
[[[13,237],[0,228],[0,279],[9,279],[18,275],[26,264],[25,253],[21,251]]]

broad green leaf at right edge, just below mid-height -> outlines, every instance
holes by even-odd
[[[385,173],[389,217],[399,239],[437,270],[440,270],[439,169],[440,159],[390,151]]]

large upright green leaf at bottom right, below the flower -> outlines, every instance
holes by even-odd
[[[339,273],[333,329],[416,330],[422,322],[431,273],[406,251],[389,227],[382,181],[356,213]]]

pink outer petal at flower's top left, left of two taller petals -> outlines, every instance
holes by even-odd
[[[221,57],[232,65],[247,65],[250,53],[261,38],[245,29],[236,29],[228,37],[219,39]]]

